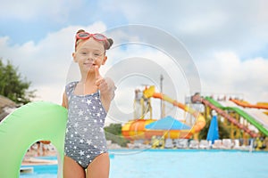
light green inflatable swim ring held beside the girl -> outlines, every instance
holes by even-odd
[[[30,145],[51,141],[58,151],[58,177],[62,177],[67,109],[46,102],[30,102],[0,123],[0,177],[19,177]]]

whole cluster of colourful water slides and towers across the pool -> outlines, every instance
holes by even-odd
[[[188,112],[195,118],[195,122],[189,125],[184,121],[182,125],[186,125],[186,127],[175,129],[172,128],[172,124],[169,125],[169,128],[154,128],[152,125],[156,125],[157,122],[165,120],[166,117],[160,119],[152,118],[151,98],[167,101],[174,107]],[[229,138],[231,141],[239,140],[243,145],[252,144],[252,147],[254,141],[267,141],[268,103],[258,102],[257,104],[250,104],[247,101],[240,101],[232,97],[230,97],[229,100],[215,100],[213,96],[205,96],[200,93],[196,93],[188,98],[188,103],[182,104],[163,93],[156,93],[155,86],[146,86],[143,91],[136,90],[134,106],[139,105],[141,107],[136,109],[137,112],[134,119],[122,125],[122,135],[127,140],[130,140],[130,142],[137,140],[149,142],[155,139],[155,136],[162,137],[164,140],[198,140],[199,132],[202,131],[208,121],[212,120],[212,113],[215,112],[218,117],[218,122],[222,122],[223,125],[229,129]],[[202,105],[204,109],[197,110],[189,107],[193,105]],[[147,112],[150,112],[149,118],[144,117]],[[173,124],[175,122],[177,122],[177,119],[174,119]],[[187,128],[187,126],[189,126],[189,128]],[[258,145],[259,146],[255,147],[268,147],[268,145],[263,142]]]

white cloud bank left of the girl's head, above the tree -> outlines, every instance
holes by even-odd
[[[70,26],[47,34],[38,44],[29,41],[21,45],[10,45],[9,37],[4,36],[0,38],[1,57],[19,67],[21,75],[32,82],[33,89],[38,90],[39,100],[59,103],[62,100],[63,87],[68,81],[74,36],[80,28],[89,31],[106,29],[103,22],[96,22],[88,27]]]

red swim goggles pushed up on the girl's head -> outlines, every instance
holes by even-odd
[[[90,37],[93,37],[97,41],[105,42],[105,49],[108,49],[110,44],[109,44],[106,36],[104,36],[102,34],[90,34],[88,32],[80,32],[76,35],[75,48],[78,45],[79,39],[89,39]]]

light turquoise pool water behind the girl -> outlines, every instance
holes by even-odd
[[[110,150],[111,178],[266,178],[268,152],[236,150]],[[21,177],[56,178],[57,166]]]

